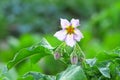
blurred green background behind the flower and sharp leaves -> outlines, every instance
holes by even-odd
[[[60,18],[80,20],[84,39],[79,44],[86,58],[120,47],[120,0],[0,0],[0,64],[6,64],[17,51],[38,43],[42,37],[53,47],[60,44],[53,37],[60,30]],[[65,68],[52,56],[39,64],[40,68],[33,70],[46,74]],[[30,65],[29,61],[18,64],[17,74],[31,70]]]

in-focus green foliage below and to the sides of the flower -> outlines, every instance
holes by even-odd
[[[62,48],[62,46],[61,46]],[[74,49],[78,51],[77,49]],[[46,41],[46,39],[42,39],[40,43],[33,45],[30,48],[22,49],[20,52],[18,52],[14,59],[10,61],[7,64],[8,69],[12,68],[15,64],[18,64],[20,61],[23,61],[25,58],[30,57],[32,55],[41,54],[39,55],[38,60],[36,60],[36,63],[39,62],[41,58],[48,55],[53,55],[54,49],[51,47],[51,45]],[[81,51],[81,50],[80,50]],[[86,59],[86,61],[79,62],[78,65],[70,65],[67,64],[64,60],[60,59],[64,62],[64,64],[67,64],[69,67],[57,75],[46,75],[40,72],[27,72],[23,75],[24,79],[31,79],[31,80],[118,80],[119,75],[119,55],[120,49],[117,48],[109,53],[103,53],[107,55],[101,55],[100,57],[109,57],[105,60],[100,60],[98,56],[93,59]],[[29,54],[29,55],[28,55]],[[79,53],[81,54],[81,53]],[[98,54],[99,55],[99,54]],[[66,58],[63,56],[63,58]],[[32,58],[30,58],[32,59]],[[34,63],[35,64],[35,63]],[[59,68],[59,67],[58,67]],[[117,72],[116,72],[117,71]],[[31,77],[30,77],[31,76]],[[20,78],[22,79],[22,77]]]

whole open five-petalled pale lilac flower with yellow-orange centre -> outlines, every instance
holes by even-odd
[[[62,30],[54,34],[61,41],[65,41],[70,47],[76,44],[76,41],[80,41],[83,38],[83,34],[77,29],[80,25],[78,19],[72,19],[70,22],[67,19],[60,19]]]

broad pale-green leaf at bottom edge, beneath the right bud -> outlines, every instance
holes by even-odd
[[[87,80],[80,66],[69,66],[64,72],[57,75],[56,80]]]

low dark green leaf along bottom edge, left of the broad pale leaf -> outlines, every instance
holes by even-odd
[[[32,76],[34,80],[55,80],[54,76],[41,74],[39,72],[27,72],[26,74],[24,74],[23,78],[26,78],[29,76]]]

